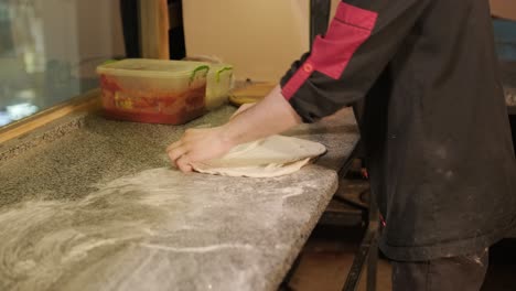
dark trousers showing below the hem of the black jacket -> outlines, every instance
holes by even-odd
[[[488,249],[429,261],[393,261],[393,291],[479,291],[488,265]]]

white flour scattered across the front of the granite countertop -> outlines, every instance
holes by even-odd
[[[289,230],[279,225],[310,218],[286,205],[310,194],[291,182],[278,188],[288,179],[160,168],[80,201],[4,207],[0,290],[248,290],[262,280],[266,257],[284,251]]]

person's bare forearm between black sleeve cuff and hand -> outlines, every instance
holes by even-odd
[[[225,139],[232,144],[254,141],[286,131],[301,122],[290,104],[275,87],[264,100],[224,125]]]

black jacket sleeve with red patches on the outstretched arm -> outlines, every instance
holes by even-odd
[[[281,78],[305,122],[363,98],[428,7],[428,0],[342,1],[324,36]]]

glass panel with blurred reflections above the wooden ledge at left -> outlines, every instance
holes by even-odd
[[[0,126],[97,87],[125,56],[119,0],[0,0]]]

